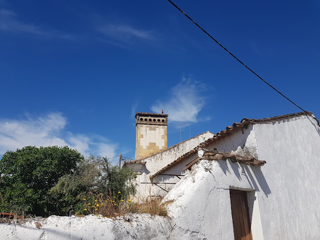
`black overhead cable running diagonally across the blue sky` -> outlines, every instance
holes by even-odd
[[[303,112],[307,112],[304,109],[302,109],[301,107],[299,107],[297,104],[295,104],[294,102],[292,102],[289,98],[287,98],[286,96],[284,96],[280,91],[278,91],[275,87],[273,87],[270,83],[268,83],[266,80],[264,80],[263,78],[261,78],[257,73],[255,73],[252,69],[250,69],[248,66],[246,66],[239,58],[237,58],[234,54],[232,54],[226,47],[224,47],[220,42],[218,42],[215,38],[213,38],[210,34],[208,34],[203,28],[200,27],[200,25],[198,23],[196,23],[191,17],[189,17],[184,11],[182,11],[176,4],[174,4],[171,0],[168,0],[173,6],[175,6],[175,8],[177,8],[181,13],[183,13],[183,15],[185,15],[190,21],[192,21],[198,28],[200,28],[202,30],[202,32],[204,32],[206,35],[208,35],[212,40],[214,40],[216,43],[219,44],[219,46],[221,46],[224,50],[226,50],[231,56],[233,56],[235,59],[237,59],[238,62],[240,62],[244,67],[246,67],[251,73],[253,73],[255,76],[257,76],[260,80],[264,81],[266,84],[268,84],[272,89],[274,89],[276,92],[278,92],[282,97],[284,97],[285,99],[287,99],[289,102],[291,102],[292,104],[294,104],[296,107],[298,107],[299,109],[301,109]],[[312,118],[314,118],[317,122],[318,125],[320,126],[319,120],[313,116],[311,116]]]

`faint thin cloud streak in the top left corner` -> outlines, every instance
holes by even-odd
[[[17,14],[7,9],[0,9],[0,31],[25,33],[42,37],[69,39],[70,35],[57,30],[44,29],[43,26],[33,23],[24,23],[17,19]]]

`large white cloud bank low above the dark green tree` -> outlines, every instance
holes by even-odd
[[[69,146],[82,155],[115,156],[117,144],[99,135],[65,131],[67,119],[61,113],[23,120],[0,120],[0,155],[25,146]]]

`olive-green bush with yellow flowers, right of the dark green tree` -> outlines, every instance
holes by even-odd
[[[72,209],[77,214],[96,214],[93,207],[96,203],[99,211],[103,208],[106,212],[115,212],[135,194],[135,178],[131,169],[112,166],[106,158],[90,156],[80,161],[76,172],[62,176],[50,194],[69,200],[69,204],[61,206],[64,211]]]

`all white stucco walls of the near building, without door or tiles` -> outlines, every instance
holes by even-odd
[[[207,240],[234,239],[232,188],[248,191],[254,240],[320,239],[320,129],[315,120],[302,116],[254,124],[207,148],[214,147],[251,154],[267,163],[261,167],[230,160],[195,164],[163,200],[173,201],[168,209],[182,230]]]

